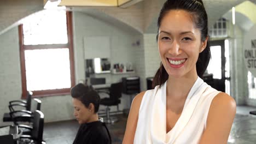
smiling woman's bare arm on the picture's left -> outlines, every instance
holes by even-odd
[[[129,116],[127,119],[123,144],[133,143],[138,122],[139,106],[141,106],[141,101],[144,93],[145,92],[139,93],[132,101]]]

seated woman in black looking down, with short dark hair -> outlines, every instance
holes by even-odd
[[[80,124],[73,144],[111,143],[109,131],[104,123],[98,121],[100,96],[92,87],[82,83],[71,89],[74,116]]]

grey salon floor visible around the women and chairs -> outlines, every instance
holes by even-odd
[[[250,115],[249,111],[256,107],[237,106],[237,113],[232,125],[228,143],[255,144],[256,143],[256,116]],[[117,115],[119,122],[108,124],[112,143],[121,143],[124,137],[127,118]],[[46,123],[44,126],[44,140],[47,144],[70,144],[73,143],[79,124],[77,121],[64,121]]]

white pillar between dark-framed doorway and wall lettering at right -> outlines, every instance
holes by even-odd
[[[248,98],[247,69],[243,60],[244,31],[229,22],[230,46],[230,95],[237,105],[246,105]]]

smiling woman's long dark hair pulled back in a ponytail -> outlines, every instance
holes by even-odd
[[[202,0],[167,0],[162,9],[160,11],[158,17],[158,30],[161,26],[162,19],[170,10],[181,9],[188,11],[191,16],[193,17],[193,22],[196,28],[200,29],[201,32],[201,41],[207,40],[207,45],[205,50],[199,53],[199,57],[196,62],[196,72],[199,77],[202,78],[203,73],[208,66],[208,63],[211,58],[211,51],[210,51],[210,37],[208,35],[208,17],[203,6]],[[156,36],[156,40],[158,40],[158,35]],[[164,65],[160,63],[160,68],[156,71],[156,74],[153,79],[152,87],[154,88],[157,85],[162,85],[168,79],[168,74],[164,68]]]

